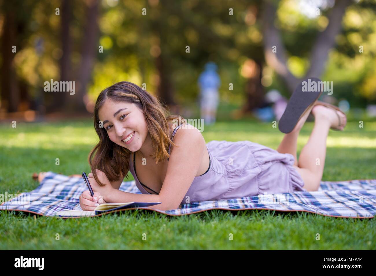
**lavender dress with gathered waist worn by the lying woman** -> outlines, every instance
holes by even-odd
[[[173,136],[180,126],[175,128]],[[210,158],[209,168],[203,175],[193,179],[182,204],[264,195],[264,192],[269,194],[306,191],[303,188],[303,179],[292,166],[292,154],[279,153],[250,141],[213,140],[206,144],[206,148]],[[170,149],[168,153],[170,154]],[[130,172],[141,193],[158,194],[138,181],[134,161],[132,158],[129,161]]]

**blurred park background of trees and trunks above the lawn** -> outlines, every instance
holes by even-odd
[[[124,80],[185,118],[271,121],[306,77],[333,81],[320,100],[349,120],[376,116],[374,0],[0,3],[2,121],[89,118]],[[51,80],[75,93],[46,92]]]

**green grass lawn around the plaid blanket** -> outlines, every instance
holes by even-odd
[[[313,123],[301,131],[298,151]],[[65,175],[89,170],[88,153],[97,142],[91,121],[0,125],[0,193],[29,192],[33,172]],[[206,142],[250,140],[276,149],[283,134],[271,123],[217,122],[204,126]],[[376,178],[376,122],[349,122],[330,131],[323,180]],[[60,165],[55,164],[59,158]],[[129,179],[133,179],[129,173]],[[4,249],[309,249],[374,250],[376,218],[343,219],[268,210],[211,210],[171,217],[146,210],[97,218],[58,219],[0,211]],[[56,240],[56,234],[60,240]],[[320,234],[320,240],[316,235]],[[143,236],[146,234],[146,240]],[[233,234],[233,240],[229,236]]]

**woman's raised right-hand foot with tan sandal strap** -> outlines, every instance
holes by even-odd
[[[347,123],[346,115],[326,106],[315,105],[312,109],[312,114],[315,116],[315,119],[319,118],[329,122],[330,127],[335,130],[343,130]]]

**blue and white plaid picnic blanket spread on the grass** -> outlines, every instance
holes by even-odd
[[[55,216],[56,211],[82,210],[79,196],[87,187],[82,177],[47,172],[40,185],[29,193],[4,202],[0,210],[24,211]],[[120,190],[141,193],[135,181],[123,181]],[[20,200],[21,199],[21,200]],[[331,217],[372,218],[376,214],[376,179],[322,181],[315,192],[294,192],[250,196],[222,201],[191,202],[175,210],[149,209],[170,216],[193,214],[211,209],[305,211]],[[134,208],[133,208],[134,209]]]

